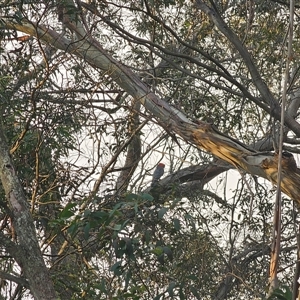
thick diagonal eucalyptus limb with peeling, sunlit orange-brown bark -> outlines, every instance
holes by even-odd
[[[188,143],[204,149],[218,158],[230,163],[234,167],[247,173],[268,179],[277,183],[278,155],[269,152],[256,152],[239,141],[230,138],[211,124],[198,121],[192,122],[181,111],[161,100],[149,91],[136,74],[114,60],[101,45],[86,33],[82,36],[82,27],[67,24],[70,30],[76,33],[80,40],[68,40],[54,30],[42,25],[23,20],[17,23],[6,18],[6,29],[16,29],[33,35],[45,43],[67,53],[76,55],[95,68],[99,68],[110,76],[128,94],[140,101],[150,111],[168,132],[175,132]],[[282,158],[282,191],[300,203],[300,170],[296,167],[293,156]]]

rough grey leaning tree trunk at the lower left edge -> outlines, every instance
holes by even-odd
[[[24,272],[35,299],[58,299],[36,237],[29,205],[15,172],[9,149],[0,128],[0,178],[16,232],[16,252],[10,243],[12,256]]]

